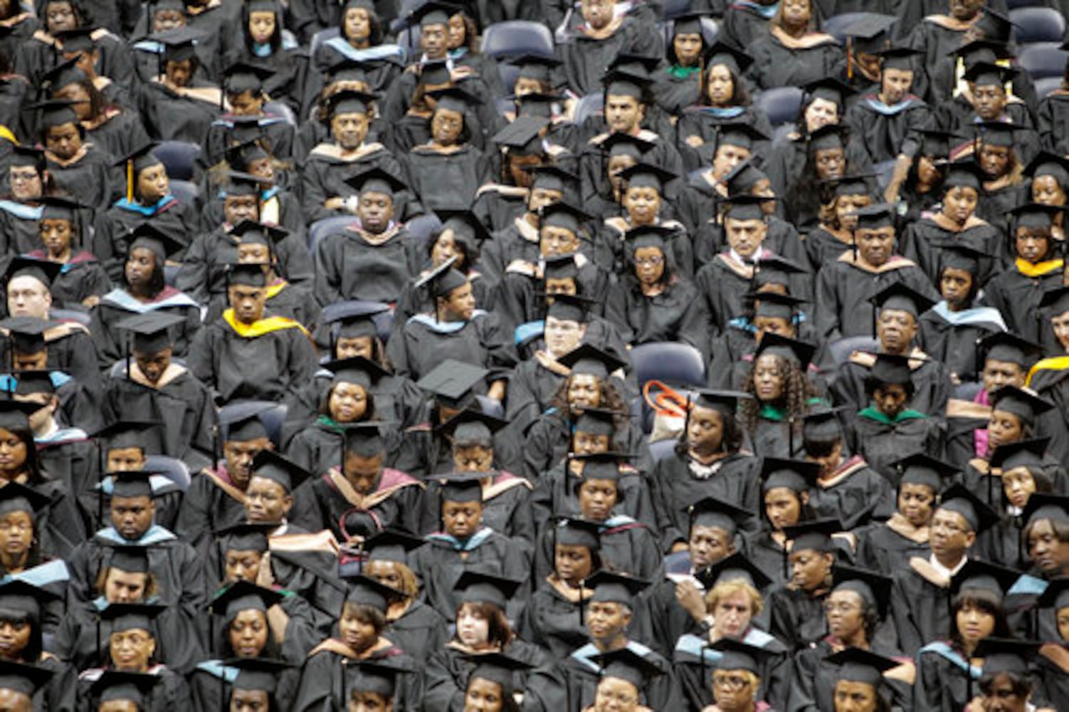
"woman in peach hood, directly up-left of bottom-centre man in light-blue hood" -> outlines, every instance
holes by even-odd
[[[524,640],[559,663],[590,639],[584,609],[593,590],[585,581],[603,569],[604,562],[597,526],[578,518],[560,520],[552,526],[553,571],[541,582],[536,579],[518,629]]]

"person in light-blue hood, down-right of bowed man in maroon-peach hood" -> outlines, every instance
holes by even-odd
[[[459,609],[456,582],[466,571],[518,582],[518,601],[530,589],[530,553],[523,545],[482,524],[482,485],[478,473],[452,473],[441,490],[441,528],[425,537],[429,544],[412,557],[412,569],[422,584],[424,599],[450,622]]]

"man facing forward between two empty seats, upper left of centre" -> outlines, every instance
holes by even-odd
[[[397,303],[422,262],[414,238],[394,219],[393,196],[405,185],[378,168],[346,183],[356,189],[356,221],[316,243],[315,297],[323,306],[346,299]]]

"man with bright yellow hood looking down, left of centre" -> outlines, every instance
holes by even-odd
[[[293,320],[264,314],[262,265],[234,265],[228,293],[231,308],[190,345],[189,370],[223,403],[293,397],[315,373],[315,350],[307,331]]]

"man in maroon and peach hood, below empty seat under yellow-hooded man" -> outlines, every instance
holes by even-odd
[[[252,461],[261,450],[275,447],[258,411],[220,418],[211,436],[212,462],[192,476],[174,524],[174,532],[198,551],[207,547],[214,532],[245,520]],[[222,446],[221,461],[217,442]]]

